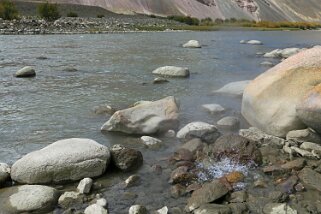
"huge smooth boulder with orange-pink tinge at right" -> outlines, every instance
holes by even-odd
[[[251,81],[243,94],[245,119],[278,137],[306,128],[296,107],[321,82],[320,57],[321,47],[301,51]]]

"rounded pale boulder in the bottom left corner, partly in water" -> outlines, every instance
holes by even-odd
[[[58,201],[56,189],[40,185],[8,187],[0,190],[1,213],[47,213]]]

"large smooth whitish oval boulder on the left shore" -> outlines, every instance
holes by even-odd
[[[59,140],[15,162],[11,178],[28,184],[75,181],[103,174],[109,161],[109,149],[96,141]]]

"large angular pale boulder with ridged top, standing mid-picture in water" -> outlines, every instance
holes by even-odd
[[[179,106],[174,97],[120,110],[101,127],[102,131],[150,135],[178,127]]]

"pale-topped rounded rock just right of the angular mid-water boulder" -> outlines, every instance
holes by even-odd
[[[204,142],[211,143],[220,135],[220,132],[214,125],[204,122],[192,122],[180,129],[177,132],[176,137],[184,142],[194,138],[199,138]]]

